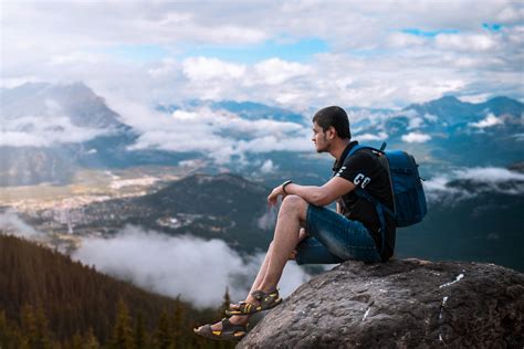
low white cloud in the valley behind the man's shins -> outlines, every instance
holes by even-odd
[[[199,307],[216,307],[226,287],[233,300],[244,299],[263,254],[242,258],[220,240],[174,237],[126,226],[109,239],[85,239],[73,257],[143,288],[171,297],[180,295]],[[301,267],[289,263],[280,283],[281,294],[290,295],[307,279]]]

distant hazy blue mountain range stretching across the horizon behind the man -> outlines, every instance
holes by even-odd
[[[331,160],[310,157],[308,152],[297,150],[254,151],[247,154],[247,159],[240,165],[234,161],[214,163],[206,151],[198,150],[168,151],[156,147],[130,151],[142,130],[127,125],[123,116],[107,107],[103,97],[82,83],[28,83],[15,88],[2,88],[0,96],[2,187],[66,183],[77,168],[176,166],[190,159],[208,160],[206,169],[209,173],[226,168],[232,172],[263,174],[269,183],[276,178],[271,171],[262,174],[259,171],[266,160],[280,170],[279,181],[292,174],[306,182],[329,176],[325,169]],[[197,110],[202,106],[226,110],[249,121],[295,124],[308,134],[308,115],[253,102],[190,101],[184,107],[159,105],[157,109],[169,115],[181,108]],[[355,139],[371,146],[387,141],[389,149],[400,148],[415,154],[423,165],[421,172],[426,177],[449,167],[509,166],[523,159],[524,105],[511,98],[495,97],[473,104],[444,96],[401,110],[350,106],[347,110]]]

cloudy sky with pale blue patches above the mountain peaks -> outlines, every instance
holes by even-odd
[[[399,108],[524,99],[524,4],[10,1],[0,85],[84,82],[114,105],[252,101]]]

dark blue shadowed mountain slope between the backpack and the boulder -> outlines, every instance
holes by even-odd
[[[511,176],[497,180],[486,171],[438,190],[427,188],[428,214],[397,230],[396,255],[495,263],[524,272],[524,176]]]

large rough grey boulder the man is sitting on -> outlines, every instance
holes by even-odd
[[[237,348],[523,348],[524,275],[494,264],[346,262],[298,287]]]

